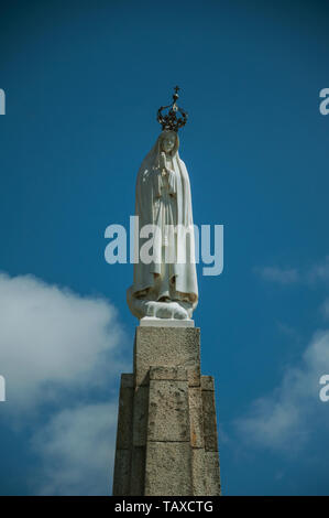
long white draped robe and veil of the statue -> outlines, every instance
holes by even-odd
[[[144,263],[140,259],[134,263],[133,285],[130,290],[136,298],[152,300],[152,293],[155,293],[155,300],[166,296],[195,304],[198,285],[189,177],[178,154],[176,133],[175,148],[166,160],[169,173],[162,174],[160,155],[165,133],[161,133],[144,159],[136,179],[135,215],[139,216],[139,230],[145,225],[156,225],[161,231],[154,235],[153,249],[150,251],[153,260]],[[166,228],[166,225],[169,227]],[[152,234],[140,237],[135,231],[135,258],[140,257],[143,244],[150,242],[150,238]]]

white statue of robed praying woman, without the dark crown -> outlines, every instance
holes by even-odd
[[[139,261],[127,293],[129,307],[138,319],[191,319],[198,302],[190,184],[178,147],[176,131],[162,131],[138,174],[135,215],[140,235],[134,246]],[[156,228],[152,241],[145,225],[156,226],[151,227]],[[143,260],[146,242],[149,252],[150,242],[153,245],[151,262]]]

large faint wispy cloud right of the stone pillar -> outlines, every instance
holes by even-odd
[[[329,331],[317,332],[300,366],[286,370],[281,385],[255,400],[248,414],[235,421],[239,436],[271,450],[298,450],[323,421],[328,408],[319,401],[319,378],[329,373]]]

